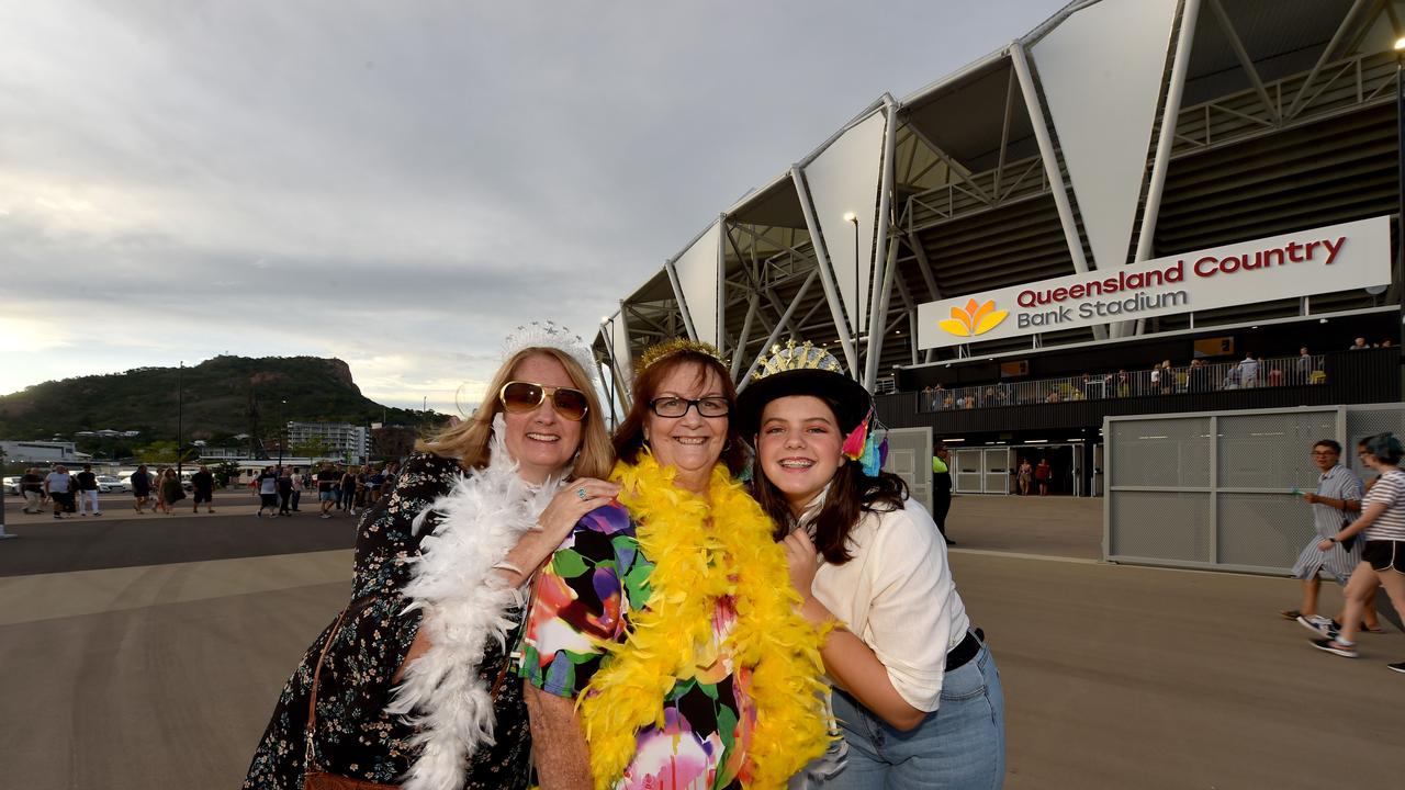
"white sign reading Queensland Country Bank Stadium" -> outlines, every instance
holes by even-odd
[[[917,306],[917,346],[1388,285],[1390,222],[1375,216],[927,302]]]

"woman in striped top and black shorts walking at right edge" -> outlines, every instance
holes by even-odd
[[[1342,614],[1342,630],[1325,640],[1312,640],[1312,645],[1346,658],[1360,655],[1356,651],[1356,631],[1361,623],[1366,602],[1375,595],[1375,588],[1385,588],[1395,611],[1405,611],[1405,446],[1391,433],[1378,433],[1361,440],[1357,455],[1361,462],[1380,472],[1361,499],[1361,516],[1343,527],[1342,531],[1318,544],[1322,551],[1331,551],[1332,544],[1360,537],[1361,561],[1352,571],[1346,583],[1346,611]],[[1395,672],[1405,672],[1405,661],[1387,665]]]

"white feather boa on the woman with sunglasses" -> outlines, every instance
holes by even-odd
[[[502,420],[502,417],[497,417]],[[419,531],[430,512],[443,519],[407,562],[406,611],[424,611],[430,648],[405,671],[386,711],[419,730],[412,744],[420,756],[402,777],[405,790],[458,790],[468,759],[493,744],[493,700],[479,676],[488,640],[504,645],[513,621],[506,613],[521,606],[523,590],[493,574],[527,531],[540,530],[537,516],[561,488],[561,479],[532,486],[517,477],[517,464],[495,426],[492,464],[459,479],[416,516]]]

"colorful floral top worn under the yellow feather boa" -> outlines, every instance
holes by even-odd
[[[649,600],[653,562],[639,550],[636,524],[620,505],[586,514],[537,578],[523,637],[523,676],[573,697],[590,683],[606,644],[629,630],[629,613]],[[717,600],[714,640],[663,700],[663,727],[636,734],[634,762],[618,790],[721,790],[749,780],[746,753],[756,714],[750,671],[733,666],[726,635],[736,621],[731,596]]]

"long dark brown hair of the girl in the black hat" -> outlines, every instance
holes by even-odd
[[[821,398],[821,401],[835,412],[835,403],[830,399]],[[849,429],[851,427],[849,426]],[[762,510],[766,510],[776,522],[776,540],[784,538],[795,526],[795,514],[776,484],[766,478],[759,462],[752,481],[752,496],[762,505]],[[849,562],[853,559],[849,552],[849,536],[858,526],[864,513],[901,510],[905,499],[908,499],[908,484],[902,478],[884,471],[880,471],[878,477],[868,477],[858,461],[844,458],[835,470],[835,477],[829,479],[825,503],[821,505],[819,513],[811,522],[815,527],[815,548],[832,565]]]

